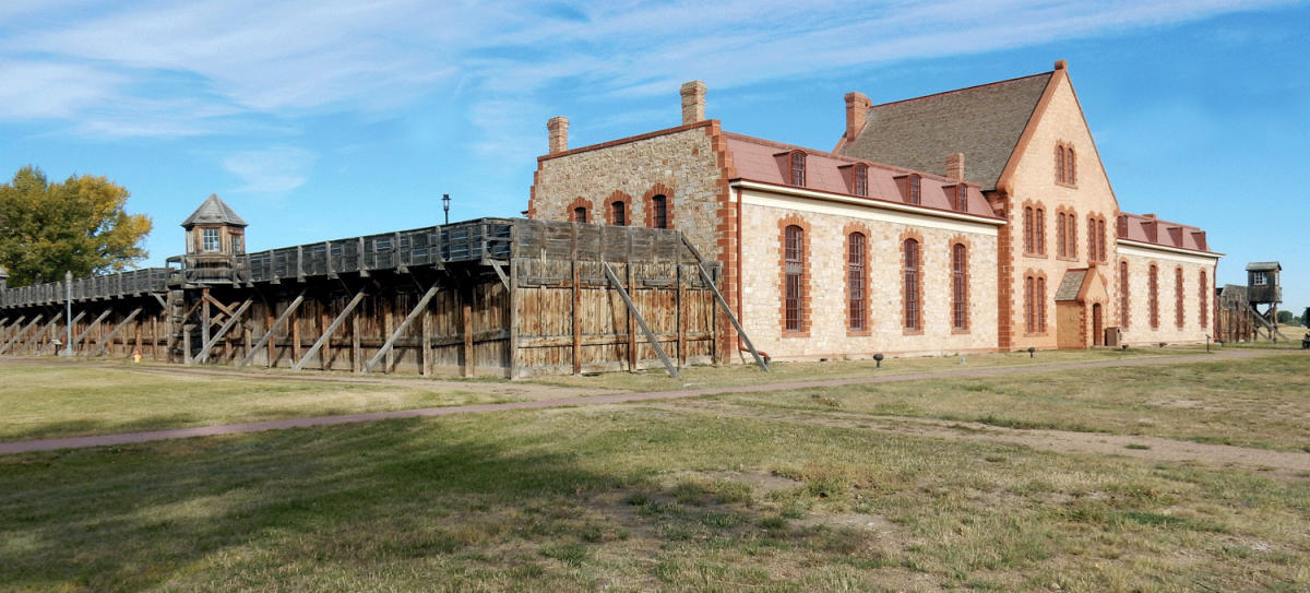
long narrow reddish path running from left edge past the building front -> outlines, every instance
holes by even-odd
[[[1172,363],[1187,363],[1187,362],[1209,362],[1216,359],[1248,358],[1248,357],[1272,356],[1284,353],[1286,352],[1285,350],[1226,350],[1209,356],[1207,358],[1197,358],[1196,356],[1186,356],[1186,357],[1136,358],[1136,359],[1120,359],[1120,361],[1070,362],[1070,363],[1023,366],[1023,367],[958,369],[958,370],[937,371],[937,373],[874,375],[874,377],[861,377],[861,378],[848,378],[848,379],[803,380],[803,382],[787,382],[787,383],[749,384],[738,387],[711,387],[711,388],[698,388],[698,390],[652,391],[652,392],[639,392],[639,394],[605,392],[603,395],[592,395],[592,396],[579,396],[576,394],[580,390],[570,388],[569,390],[569,394],[571,394],[570,396],[545,398],[533,401],[455,405],[445,408],[402,409],[392,412],[368,412],[368,413],[354,413],[342,416],[318,416],[318,417],[305,417],[305,419],[271,420],[261,422],[196,426],[196,428],[172,429],[172,430],[152,430],[140,433],[97,434],[89,437],[67,437],[67,438],[47,438],[38,441],[7,442],[7,443],[0,443],[0,454],[127,445],[127,443],[139,443],[149,441],[166,441],[174,438],[210,437],[219,434],[241,434],[241,433],[254,433],[263,430],[280,430],[280,429],[309,428],[309,426],[331,426],[338,424],[371,422],[377,420],[452,416],[460,413],[486,413],[486,412],[500,412],[512,409],[541,409],[541,408],[557,408],[557,407],[570,407],[570,405],[622,404],[630,401],[659,401],[659,400],[698,398],[702,395],[757,394],[765,391],[790,391],[790,390],[803,390],[803,388],[841,387],[850,384],[870,384],[870,383],[899,383],[909,380],[943,379],[943,378],[958,378],[958,377],[994,377],[994,375],[1006,375],[1015,373],[1043,373],[1043,371],[1065,370],[1065,369],[1102,369],[1102,367],[1123,367],[1123,366],[1172,365]],[[227,371],[221,373],[227,374]],[[259,375],[259,377],[269,377],[269,375]],[[297,378],[299,377],[300,375],[297,375]],[[432,383],[434,382],[424,382],[424,384],[432,384]],[[468,388],[469,386],[477,386],[479,383],[458,382],[457,384],[458,388]],[[486,383],[486,384],[503,386],[503,383]],[[548,387],[548,386],[536,386],[536,387],[545,390],[561,390],[559,387]],[[1124,451],[1131,451],[1131,450],[1125,449]],[[1123,453],[1123,451],[1116,451],[1116,453]]]

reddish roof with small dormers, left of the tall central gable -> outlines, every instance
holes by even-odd
[[[723,138],[727,140],[727,150],[732,156],[732,167],[741,180],[773,185],[791,185],[787,160],[779,157],[779,155],[800,151],[806,153],[806,184],[799,188],[854,195],[848,168],[863,164],[869,167],[869,195],[861,195],[861,198],[869,199],[871,206],[878,202],[908,203],[899,180],[917,173],[920,176],[920,206],[975,216],[1000,218],[992,210],[992,206],[988,205],[986,198],[982,197],[982,192],[977,185],[965,184],[965,192],[968,193],[968,203],[965,206],[968,210],[962,211],[956,210],[952,203],[954,190],[959,185],[959,181],[950,177],[741,134],[723,133]]]

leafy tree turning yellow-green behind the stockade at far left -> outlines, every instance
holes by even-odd
[[[127,214],[131,193],[105,177],[69,176],[51,184],[28,165],[0,185],[0,266],[9,286],[122,272],[145,258],[144,214]]]

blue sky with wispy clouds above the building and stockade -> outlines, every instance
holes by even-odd
[[[545,122],[583,146],[680,122],[832,148],[842,94],[893,101],[1069,72],[1120,206],[1281,260],[1310,306],[1305,3],[0,4],[0,176],[107,176],[155,219],[147,264],[210,193],[263,249],[527,207]]]

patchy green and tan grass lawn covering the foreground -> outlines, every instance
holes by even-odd
[[[1307,370],[1289,352],[4,455],[0,589],[1306,590],[1310,472],[859,419],[1294,451]],[[103,374],[88,401],[141,380]],[[280,398],[267,380],[194,378],[228,403],[191,413]]]

